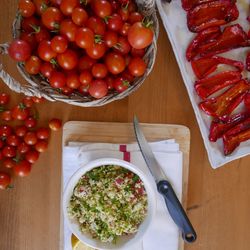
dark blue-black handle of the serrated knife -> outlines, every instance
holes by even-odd
[[[169,214],[174,220],[175,224],[182,232],[182,238],[188,243],[196,240],[197,235],[194,228],[189,221],[180,201],[178,200],[171,184],[162,180],[157,183],[158,192],[164,197]]]

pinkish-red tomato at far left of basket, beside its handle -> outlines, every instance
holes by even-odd
[[[17,62],[26,61],[31,55],[31,47],[28,42],[16,39],[10,44],[8,53]]]

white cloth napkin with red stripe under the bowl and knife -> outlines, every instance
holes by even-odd
[[[150,143],[155,157],[170,180],[177,196],[182,195],[182,152],[175,140],[165,140]],[[63,148],[63,187],[72,174],[79,168],[79,163],[86,164],[98,158],[118,158],[130,161],[149,175],[150,172],[144,162],[137,144],[111,144],[111,143],[81,143],[70,142]],[[178,250],[179,231],[168,214],[165,202],[157,193],[157,211],[153,224],[146,232],[143,242],[136,250]],[[71,232],[68,226],[64,225],[64,249],[71,250]],[[128,249],[132,250],[132,249]]]

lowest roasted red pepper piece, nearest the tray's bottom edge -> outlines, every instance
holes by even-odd
[[[250,118],[239,123],[223,135],[224,154],[231,154],[241,142],[250,139]]]

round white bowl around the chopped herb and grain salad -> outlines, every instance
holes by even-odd
[[[140,177],[140,179],[143,181],[144,187],[147,193],[148,211],[147,211],[146,218],[139,226],[138,232],[129,236],[119,237],[116,244],[101,242],[98,239],[93,239],[90,234],[81,232],[79,229],[79,224],[76,223],[76,221],[69,218],[68,211],[67,211],[67,207],[68,207],[70,198],[73,194],[74,187],[78,183],[81,176],[84,175],[86,172],[90,171],[91,169],[102,166],[102,165],[118,165],[137,174]],[[64,218],[70,230],[72,231],[72,233],[75,234],[80,241],[82,241],[84,244],[92,248],[130,249],[130,247],[133,247],[133,245],[138,244],[138,242],[142,240],[143,235],[145,234],[150,224],[152,223],[152,219],[156,210],[155,197],[156,197],[155,192],[151,186],[150,179],[138,167],[123,160],[113,159],[113,158],[102,158],[102,159],[91,161],[88,164],[81,166],[70,178],[69,182],[66,185],[66,188],[64,190],[64,195],[63,195]]]

